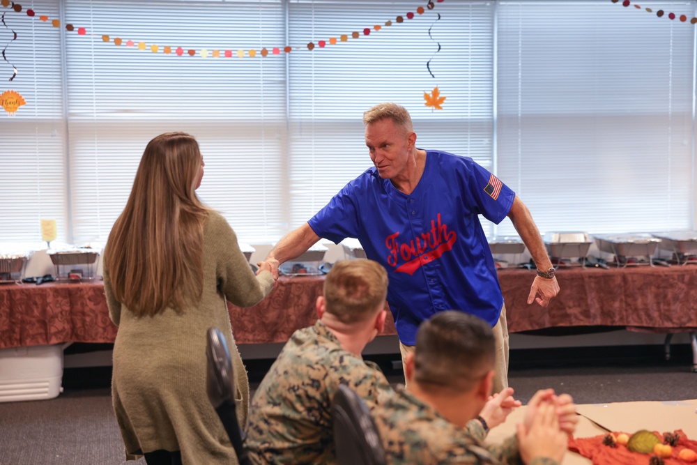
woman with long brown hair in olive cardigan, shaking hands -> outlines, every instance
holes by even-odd
[[[244,425],[249,383],[226,300],[250,307],[273,289],[270,266],[254,275],[227,221],[199,201],[203,175],[194,137],[151,140],[104,254],[114,411],[126,457],[148,465],[236,463],[206,395],[206,330],[227,336]]]

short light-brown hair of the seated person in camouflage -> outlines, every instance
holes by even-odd
[[[382,310],[388,294],[388,273],[368,259],[342,260],[324,281],[326,310],[342,323],[365,321]]]

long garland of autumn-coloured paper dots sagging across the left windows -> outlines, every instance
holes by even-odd
[[[436,3],[442,3],[444,0],[436,0]],[[0,0],[0,4],[4,7],[12,6],[13,10],[17,13],[20,13],[22,11],[22,6],[14,3],[13,1],[10,0]],[[433,1],[429,1],[428,8],[429,10],[433,8],[435,4]],[[422,15],[424,13],[424,8],[422,6],[416,8],[416,14],[413,12],[408,12],[406,15],[402,16],[399,15],[395,18],[394,22],[397,22],[398,24],[401,24],[404,22],[404,17],[406,16],[407,20],[413,20],[413,18],[416,15]],[[36,17],[36,13],[29,9],[26,10],[26,15],[29,17]],[[40,15],[38,16],[38,19],[41,20],[42,22],[49,22],[49,17],[46,15]],[[385,22],[384,26],[392,26],[394,24],[392,20],[389,20]],[[50,20],[50,23],[54,27],[60,27],[61,26],[61,21],[60,20]],[[324,48],[327,45],[336,45],[339,42],[348,42],[348,39],[358,39],[360,36],[369,36],[373,31],[380,31],[383,29],[383,25],[381,24],[375,24],[372,27],[366,27],[362,29],[362,31],[353,31],[351,35],[348,34],[341,34],[339,36],[335,37],[330,37],[328,40],[319,40],[316,45],[314,42],[309,42],[305,46],[291,46],[291,45],[286,45],[285,47],[270,47],[270,49],[263,47],[261,50],[257,51],[256,49],[227,49],[227,50],[220,50],[220,49],[207,49],[207,48],[202,48],[202,49],[193,49],[193,48],[185,48],[185,47],[161,47],[160,45],[155,45],[155,44],[146,44],[143,41],[136,41],[136,40],[124,40],[123,38],[116,37],[116,38],[111,38],[110,36],[103,34],[100,35],[98,33],[88,33],[87,30],[84,27],[76,27],[73,24],[66,24],[66,30],[68,31],[77,31],[77,34],[79,36],[91,36],[91,37],[101,37],[102,42],[105,43],[114,43],[114,45],[121,46],[125,45],[126,47],[133,47],[134,49],[137,47],[139,50],[150,50],[152,53],[163,53],[166,55],[169,54],[175,54],[176,56],[196,56],[197,54],[201,56],[201,58],[208,58],[208,56],[212,56],[213,58],[219,58],[220,56],[224,56],[225,58],[231,58],[233,56],[237,56],[238,58],[243,58],[245,56],[249,56],[253,58],[254,56],[262,56],[266,57],[268,55],[279,55],[281,52],[284,53],[290,53],[291,50],[297,50],[297,49],[307,49],[309,51],[314,50],[315,48]],[[11,79],[10,79],[11,80]]]

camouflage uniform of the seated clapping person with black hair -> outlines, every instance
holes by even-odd
[[[515,436],[500,445],[485,445],[486,432],[476,420],[466,428],[445,420],[433,407],[404,388],[372,412],[388,464],[521,464]],[[553,465],[534,459],[528,465]]]

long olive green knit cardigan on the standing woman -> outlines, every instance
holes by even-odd
[[[221,215],[204,225],[204,289],[196,305],[137,317],[114,299],[109,270],[104,284],[109,317],[118,326],[112,395],[127,459],[153,450],[181,450],[184,464],[236,464],[236,456],[206,393],[206,330],[227,337],[236,381],[238,419],[245,425],[250,388],[232,335],[226,299],[250,307],[274,280],[255,276]],[[234,321],[232,322],[234,326]]]

